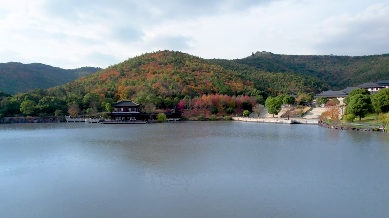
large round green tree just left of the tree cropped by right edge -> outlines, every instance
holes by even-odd
[[[371,100],[370,96],[356,94],[349,99],[349,104],[346,107],[347,114],[354,114],[361,120],[366,114],[371,111]]]

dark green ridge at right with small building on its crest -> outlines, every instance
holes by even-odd
[[[369,56],[254,54],[237,63],[268,72],[295,72],[314,76],[334,90],[364,82],[389,80],[389,54]]]

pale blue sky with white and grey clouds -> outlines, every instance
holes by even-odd
[[[105,68],[158,50],[389,53],[387,0],[0,0],[0,62]]]

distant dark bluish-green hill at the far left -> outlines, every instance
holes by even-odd
[[[16,94],[35,88],[55,87],[100,70],[98,67],[61,69],[39,63],[0,63],[0,91]]]

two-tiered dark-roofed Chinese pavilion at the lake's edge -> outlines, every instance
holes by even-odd
[[[148,119],[146,114],[140,112],[139,107],[141,104],[133,101],[121,101],[111,106],[114,107],[114,110],[108,116],[111,116],[113,120],[131,121]]]

